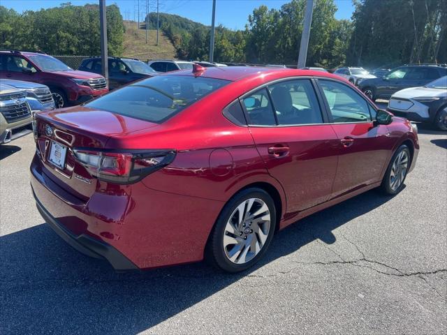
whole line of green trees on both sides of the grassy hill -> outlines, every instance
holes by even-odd
[[[334,0],[315,0],[308,66],[334,68],[404,63],[447,63],[447,0],[353,0],[351,20],[337,20]],[[296,64],[306,0],[279,9],[259,6],[244,29],[216,27],[214,59],[251,64]],[[100,54],[98,5],[17,13],[0,6],[0,49],[48,54]],[[219,15],[219,13],[218,13]],[[116,5],[107,7],[109,53],[123,55],[125,27]],[[160,28],[180,59],[207,60],[210,27],[160,13]],[[219,17],[218,17],[219,20]],[[156,14],[149,13],[156,28]],[[142,24],[142,28],[144,25]]]

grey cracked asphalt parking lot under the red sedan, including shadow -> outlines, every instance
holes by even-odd
[[[446,334],[447,136],[420,128],[395,197],[369,191],[279,232],[242,274],[117,274],[45,225],[32,135],[0,147],[1,334]],[[367,168],[367,167],[365,167]]]

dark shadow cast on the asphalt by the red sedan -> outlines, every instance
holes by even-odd
[[[0,327],[3,334],[137,334],[316,239],[334,243],[333,230],[391,198],[369,191],[302,219],[278,232],[266,257],[240,274],[223,274],[205,262],[116,273],[75,251],[46,224],[13,232],[0,237]]]

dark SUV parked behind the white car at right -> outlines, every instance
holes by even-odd
[[[365,79],[358,84],[358,88],[372,101],[376,99],[388,100],[390,96],[401,89],[424,86],[439,77],[444,77],[444,75],[447,75],[445,64],[406,64],[393,68],[383,77]]]

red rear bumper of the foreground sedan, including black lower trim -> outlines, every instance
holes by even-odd
[[[98,189],[82,200],[55,181],[37,155],[30,170],[38,208],[52,228],[60,228],[58,234],[64,232],[62,237],[82,253],[105,258],[119,270],[203,260],[223,206],[220,201],[156,191],[142,183],[115,191]]]

